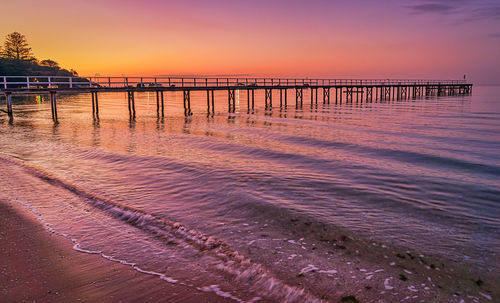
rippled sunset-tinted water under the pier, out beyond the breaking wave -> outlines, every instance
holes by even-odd
[[[254,109],[238,93],[227,113],[216,91],[213,114],[206,93],[193,92],[188,117],[182,92],[165,93],[164,117],[144,93],[134,118],[124,93],[100,94],[98,117],[90,95],[61,95],[58,124],[46,97],[16,97],[14,121],[0,118],[0,144],[4,155],[236,247],[255,241],[262,222],[276,220],[266,224],[278,231],[307,218],[491,267],[500,248],[499,92],[309,105],[304,91],[296,107],[289,91],[286,106],[278,94],[265,109],[257,91]]]

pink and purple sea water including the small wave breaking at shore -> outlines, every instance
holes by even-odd
[[[236,301],[308,300],[295,274],[328,264],[316,248],[334,238],[498,273],[500,87],[347,104],[308,93],[299,108],[275,93],[266,110],[257,92],[248,110],[239,91],[227,113],[216,92],[207,115],[194,92],[187,118],[182,92],[165,94],[164,117],[140,93],[134,120],[124,93],[100,94],[98,119],[89,94],[59,95],[57,124],[47,96],[16,96],[14,120],[0,114],[0,198],[76,249]]]

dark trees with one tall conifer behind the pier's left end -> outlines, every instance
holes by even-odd
[[[0,76],[78,76],[50,59],[39,60],[31,52],[26,37],[18,32],[7,35],[0,45]]]

